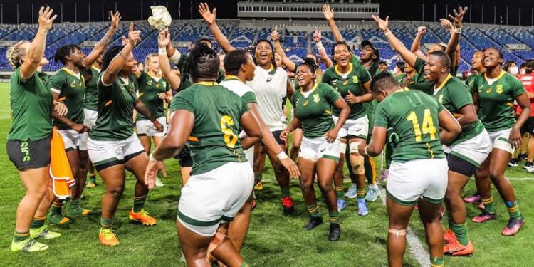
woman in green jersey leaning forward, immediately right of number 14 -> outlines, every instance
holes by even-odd
[[[450,74],[451,60],[445,52],[436,51],[426,56],[426,80],[434,83],[434,97],[449,110],[462,127],[461,134],[449,145],[444,145],[449,164],[449,182],[445,204],[449,211],[449,230],[444,252],[452,256],[465,256],[475,251],[467,236],[466,206],[461,191],[475,170],[491,151],[491,141],[484,125],[476,116],[471,91],[459,78]]]

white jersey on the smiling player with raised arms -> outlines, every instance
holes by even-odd
[[[256,66],[254,79],[246,82],[256,93],[261,118],[271,132],[283,130],[282,100],[286,97],[288,73],[283,68],[266,70]]]

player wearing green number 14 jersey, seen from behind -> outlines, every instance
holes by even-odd
[[[389,128],[399,135],[399,142],[393,146],[387,179],[389,266],[402,266],[406,229],[415,204],[419,205],[426,231],[431,266],[443,266],[439,208],[447,187],[447,161],[441,143],[450,144],[461,127],[434,98],[418,90],[400,88],[389,73],[375,76],[371,87],[379,104],[371,142],[360,144],[360,153],[370,157],[380,155]]]

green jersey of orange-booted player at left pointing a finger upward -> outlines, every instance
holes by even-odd
[[[98,118],[89,137],[99,141],[126,140],[133,135],[133,110],[137,100],[135,76],[117,77],[111,85],[98,78]]]

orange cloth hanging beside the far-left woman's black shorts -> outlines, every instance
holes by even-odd
[[[70,164],[68,164],[63,137],[56,127],[52,130],[50,177],[54,195],[60,199],[68,197],[69,188],[75,184],[75,181]]]

